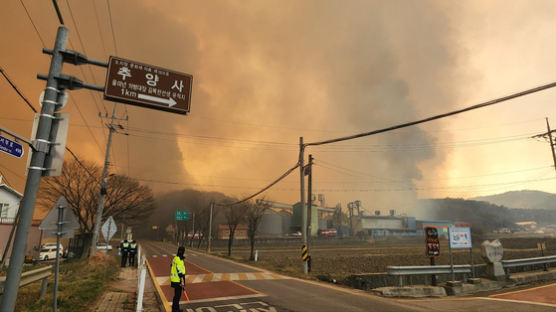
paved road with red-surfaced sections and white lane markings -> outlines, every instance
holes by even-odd
[[[145,242],[157,288],[171,305],[170,263],[177,246]],[[180,308],[187,312],[220,311],[556,311],[548,302],[515,298],[390,299],[369,292],[274,274],[187,250],[186,291]],[[547,291],[554,291],[548,288]]]

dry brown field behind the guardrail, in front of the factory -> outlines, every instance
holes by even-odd
[[[545,255],[556,254],[556,239],[538,238],[507,238],[501,239],[504,246],[504,259],[539,257],[538,241],[546,242]],[[448,241],[441,240],[441,256],[436,264],[450,264]],[[301,243],[257,244],[258,262],[249,262],[249,247],[234,246],[232,258],[248,262],[263,268],[284,274],[300,276],[302,274]],[[213,248],[214,253],[225,256],[225,247]],[[419,240],[389,241],[315,241],[310,248],[311,275],[332,276],[342,278],[352,274],[386,272],[388,265],[428,265],[430,260],[425,257],[425,246]],[[454,264],[470,264],[471,255],[468,249],[453,251]],[[473,257],[475,264],[484,263],[481,259],[480,244],[474,244]]]

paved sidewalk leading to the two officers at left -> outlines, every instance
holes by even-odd
[[[118,280],[110,283],[108,289],[91,308],[94,312],[135,311],[137,307],[137,268],[125,267],[120,270]],[[149,272],[145,278],[143,294],[143,310],[161,312],[155,295],[155,288]]]

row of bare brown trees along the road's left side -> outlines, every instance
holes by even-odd
[[[60,196],[64,196],[79,221],[81,234],[92,233],[100,193],[101,170],[94,163],[66,161],[60,176],[41,180],[39,207],[48,210]],[[255,257],[255,238],[259,225],[269,209],[268,205],[255,201],[232,205],[237,201],[234,198],[196,190],[173,192],[155,200],[148,186],[141,185],[133,178],[117,174],[108,175],[106,191],[103,221],[112,216],[117,223],[138,226],[142,231],[162,229],[163,234],[166,232],[176,242],[189,243],[189,246],[193,245],[194,238],[197,237],[196,244],[199,248],[206,238],[217,236],[218,227],[209,225],[209,220],[212,219],[213,225],[225,223],[229,229],[229,256],[232,254],[238,226],[246,224],[251,247],[250,260],[254,260]],[[212,217],[211,203],[215,203]],[[190,218],[194,215],[194,222],[193,218],[191,222],[174,221],[174,213],[177,210],[189,211]],[[221,222],[217,221],[219,216]],[[153,227],[150,224],[157,226]],[[212,229],[212,233],[209,233],[209,229]],[[190,232],[194,232],[191,239],[188,237]],[[198,235],[195,235],[196,233]],[[159,232],[154,236],[159,236]]]

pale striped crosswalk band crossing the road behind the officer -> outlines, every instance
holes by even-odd
[[[219,282],[219,281],[253,281],[253,280],[273,280],[287,279],[288,277],[264,272],[247,273],[209,273],[186,275],[186,284]],[[170,276],[157,276],[156,281],[159,285],[170,285]]]

